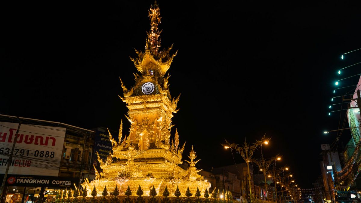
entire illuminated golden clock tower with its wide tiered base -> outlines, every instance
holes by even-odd
[[[182,196],[189,187],[191,193],[195,194],[197,188],[203,196],[205,190],[209,190],[210,183],[206,182],[198,174],[195,164],[199,161],[195,151],[192,150],[188,156],[190,167],[187,170],[179,167],[182,164],[184,146],[179,146],[179,134],[175,130],[174,138],[171,139],[171,118],[177,113],[179,96],[171,98],[169,92],[169,74],[165,73],[170,67],[175,53],[170,56],[172,47],[159,51],[160,12],[157,3],[149,9],[151,30],[147,32],[145,51],[137,51],[137,58],[131,59],[136,70],[135,85],[128,90],[123,84],[123,96],[119,96],[129,109],[127,120],[130,122],[129,135],[122,135],[123,123],[119,128],[119,142],[110,134],[113,150],[106,160],[98,156],[102,172],[96,171],[96,178],[91,182],[82,183],[87,189],[88,196],[96,186],[97,194],[106,186],[109,191],[115,187],[120,194],[124,194],[130,187],[136,191],[142,187],[145,195],[149,195],[153,185],[157,194],[162,194],[167,187],[170,196],[174,195],[177,187]],[[132,194],[135,194],[133,192]]]

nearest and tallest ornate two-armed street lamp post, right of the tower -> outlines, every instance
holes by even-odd
[[[244,139],[244,143],[242,147],[238,147],[238,144],[235,143],[230,144],[227,140],[226,140],[226,144],[222,144],[222,146],[225,149],[231,148],[239,152],[239,154],[245,160],[248,170],[249,197],[251,198],[251,201],[252,201],[252,187],[251,187],[251,173],[249,172],[249,162],[251,161],[253,151],[255,151],[259,146],[261,146],[261,144],[268,144],[270,138],[265,139],[265,136],[266,135],[264,135],[260,141],[256,140],[256,142],[253,143],[252,145],[250,145],[250,143],[248,143],[247,140]]]

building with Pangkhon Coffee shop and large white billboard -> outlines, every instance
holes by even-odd
[[[52,202],[59,190],[74,191],[92,176],[93,148],[92,130],[0,115],[1,203]]]

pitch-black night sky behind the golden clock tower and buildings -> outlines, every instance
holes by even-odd
[[[129,56],[136,57],[134,48],[144,51],[153,2],[6,3],[0,113],[117,130],[127,113],[119,77],[134,85]],[[336,74],[361,61],[361,51],[340,59],[361,48],[356,2],[158,0],[161,49],[174,43],[171,53],[178,50],[169,83],[172,97],[181,94],[172,135],[177,128],[180,143],[187,141],[183,158],[193,145],[204,170],[244,162],[221,143],[266,134],[263,155],[282,155],[277,167],[290,166],[301,187],[313,187],[320,145],[337,135],[323,131],[344,120],[339,112],[328,116],[331,98],[352,89],[334,95],[334,82],[361,72],[359,65]],[[350,138],[344,131],[338,150]]]

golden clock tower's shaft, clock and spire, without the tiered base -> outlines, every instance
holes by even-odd
[[[136,150],[169,149],[171,118],[178,111],[179,96],[172,99],[168,89],[168,76],[174,53],[169,55],[172,47],[159,51],[161,46],[158,25],[160,9],[155,2],[149,9],[151,30],[147,32],[145,51],[135,50],[138,57],[131,58],[135,68],[135,85],[128,90],[121,82],[124,96],[119,96],[127,104],[128,120],[131,123],[128,143]],[[177,146],[178,147],[178,146]]]

